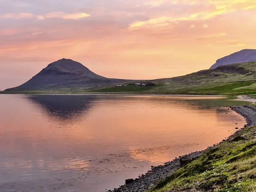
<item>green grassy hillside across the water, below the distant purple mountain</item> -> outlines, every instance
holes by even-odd
[[[158,82],[170,82],[170,85],[157,87],[151,91],[165,93],[256,93],[256,61],[220,66],[216,69],[202,70],[196,73]]]

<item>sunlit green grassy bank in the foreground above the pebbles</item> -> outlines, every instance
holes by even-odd
[[[256,126],[247,127],[179,168],[148,192],[256,190]],[[241,135],[245,134],[245,138]]]

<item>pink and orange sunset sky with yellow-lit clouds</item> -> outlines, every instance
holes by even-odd
[[[110,78],[208,69],[256,49],[255,0],[0,0],[0,89],[68,58]]]

